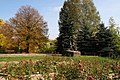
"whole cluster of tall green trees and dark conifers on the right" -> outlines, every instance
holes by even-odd
[[[120,49],[119,29],[110,18],[109,26],[101,23],[92,0],[66,0],[60,11],[57,51],[79,50],[95,54],[104,48]]]

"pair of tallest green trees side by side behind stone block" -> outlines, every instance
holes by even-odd
[[[60,12],[58,50],[90,49],[99,24],[100,16],[91,0],[65,1]]]

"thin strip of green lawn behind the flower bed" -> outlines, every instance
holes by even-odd
[[[52,58],[54,59],[58,59],[61,57],[56,58],[57,56],[14,56],[14,57],[0,57],[0,62],[10,62],[10,61],[22,61],[22,60],[40,60],[40,59],[47,59],[47,58]],[[116,61],[110,58],[103,58],[103,57],[97,57],[97,56],[80,56],[80,57],[63,57],[66,60],[69,59],[73,59],[73,60],[89,60],[89,61],[94,61],[94,60],[98,60],[98,61]],[[120,60],[117,60],[120,62]]]

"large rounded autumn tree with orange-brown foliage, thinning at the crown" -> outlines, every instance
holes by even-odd
[[[14,27],[14,38],[19,40],[18,46],[25,49],[26,53],[47,41],[47,23],[31,6],[22,6],[10,22]]]

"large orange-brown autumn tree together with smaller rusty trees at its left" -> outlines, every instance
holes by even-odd
[[[2,20],[1,20],[2,22]],[[15,17],[10,18],[0,27],[0,34],[8,40],[6,49],[20,49],[26,53],[40,49],[48,40],[47,23],[43,16],[31,6],[22,6]]]

